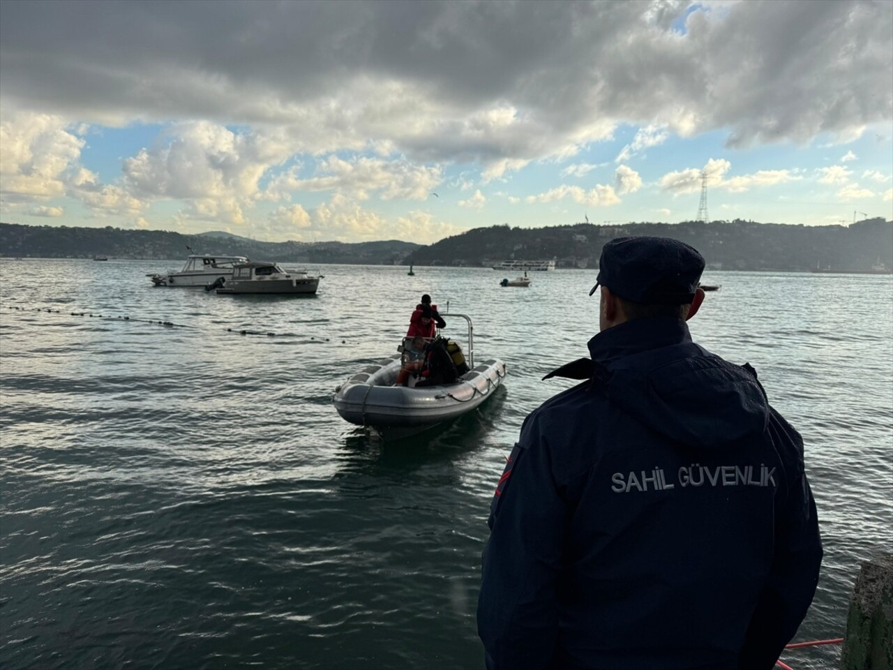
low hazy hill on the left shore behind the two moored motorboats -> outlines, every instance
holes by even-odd
[[[261,242],[226,232],[183,235],[168,230],[28,226],[0,223],[0,255],[38,258],[179,259],[196,254],[246,255],[286,263],[402,264],[418,248],[396,239],[375,242]]]

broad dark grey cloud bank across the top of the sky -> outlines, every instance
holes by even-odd
[[[308,153],[477,161],[491,179],[621,122],[642,129],[632,155],[669,132],[852,138],[893,106],[882,2],[701,4],[684,35],[681,2],[46,6],[4,1],[7,107],[275,128]]]

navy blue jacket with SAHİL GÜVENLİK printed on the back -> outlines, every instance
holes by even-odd
[[[524,421],[497,485],[488,668],[772,668],[822,561],[803,440],[748,366],[642,319]],[[582,373],[580,373],[582,372]]]

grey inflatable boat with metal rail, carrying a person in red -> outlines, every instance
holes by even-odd
[[[468,371],[455,381],[430,386],[396,386],[397,374],[405,364],[408,345],[400,353],[364,367],[335,389],[332,403],[346,421],[370,426],[382,435],[406,435],[464,415],[493,395],[505,379],[505,363],[490,358],[474,364],[472,320],[468,322]],[[407,338],[409,339],[409,338]],[[455,356],[454,356],[455,360]]]

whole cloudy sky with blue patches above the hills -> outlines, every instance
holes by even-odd
[[[893,2],[0,3],[0,220],[893,218]]]

